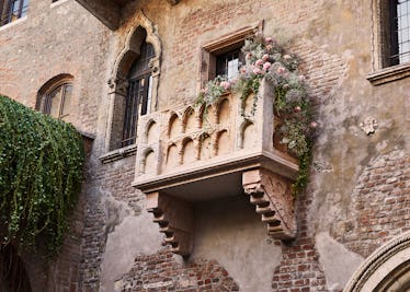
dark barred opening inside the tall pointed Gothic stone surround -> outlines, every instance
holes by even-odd
[[[152,91],[152,77],[149,61],[155,57],[151,44],[143,42],[140,55],[129,69],[128,89],[125,101],[123,139],[121,147],[135,143],[138,116],[149,112]]]

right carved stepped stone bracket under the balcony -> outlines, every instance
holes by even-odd
[[[267,232],[277,240],[296,236],[296,218],[291,182],[265,170],[253,170],[242,174],[244,192],[267,223]]]

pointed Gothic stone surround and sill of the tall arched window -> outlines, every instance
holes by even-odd
[[[149,65],[152,70],[151,107],[149,108],[149,112],[155,112],[157,109],[160,59],[162,51],[161,40],[158,36],[157,27],[144,14],[143,11],[139,11],[137,15],[133,19],[133,25],[130,25],[130,27],[132,28],[128,31],[126,36],[124,48],[118,54],[114,62],[114,67],[111,72],[111,78],[107,82],[110,86],[110,108],[105,140],[106,153],[100,156],[100,161],[102,163],[109,163],[129,155],[134,155],[137,151],[137,144],[127,145],[124,148],[116,148],[116,142],[119,141],[117,137],[118,132],[119,135],[122,135],[122,120],[124,119],[124,106],[122,106],[122,104],[124,104],[125,102],[128,86],[126,74],[129,70],[130,65],[139,55],[139,51],[137,51],[138,49],[136,49],[136,47],[138,47],[138,44],[140,44],[140,42],[144,40],[138,35],[141,28],[144,28],[146,32],[145,42],[151,44],[156,52],[156,57],[151,59]]]

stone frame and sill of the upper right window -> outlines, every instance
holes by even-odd
[[[380,85],[410,77],[410,62],[383,68],[383,3],[386,0],[372,1],[372,72],[366,79],[373,85]]]

